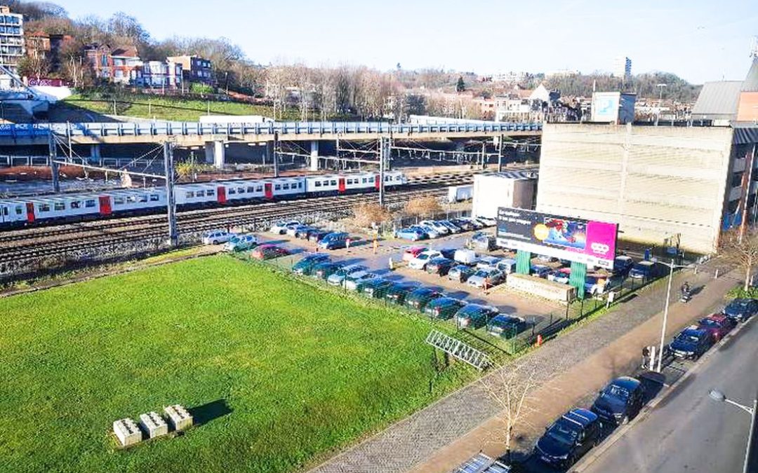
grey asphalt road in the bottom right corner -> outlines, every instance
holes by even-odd
[[[584,471],[740,473],[750,415],[708,397],[713,387],[751,405],[758,391],[758,319],[707,359]],[[756,462],[758,463],[758,459]],[[758,471],[758,465],[752,465]]]

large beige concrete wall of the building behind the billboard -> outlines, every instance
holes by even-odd
[[[545,125],[537,210],[618,222],[620,238],[716,251],[732,129]]]

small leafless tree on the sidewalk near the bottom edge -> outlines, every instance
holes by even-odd
[[[534,425],[527,420],[529,415],[539,412],[532,393],[546,384],[549,378],[547,371],[535,363],[514,363],[497,369],[479,381],[487,396],[500,408],[496,415],[500,428],[493,440],[505,443],[509,463],[512,441],[518,431],[534,429]]]

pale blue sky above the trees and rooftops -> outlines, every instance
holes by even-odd
[[[54,0],[55,1],[55,0]],[[691,82],[742,79],[756,0],[62,0],[71,17],[124,11],[153,37],[225,36],[262,64],[443,67],[493,73],[665,70]],[[623,6],[622,6],[623,5]]]

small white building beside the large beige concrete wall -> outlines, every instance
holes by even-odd
[[[475,216],[497,218],[498,207],[534,208],[537,174],[511,171],[474,176],[474,201],[471,213]]]

